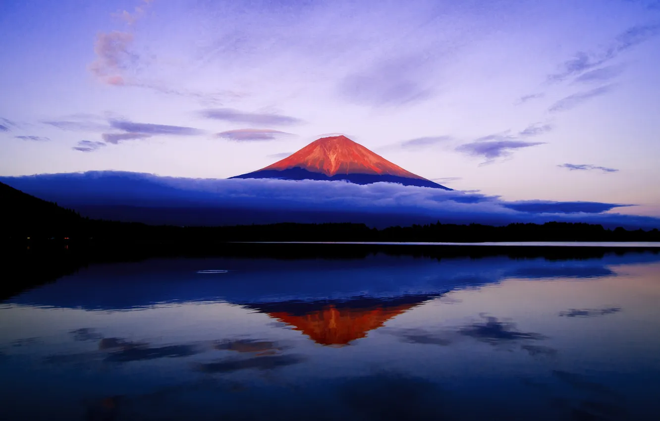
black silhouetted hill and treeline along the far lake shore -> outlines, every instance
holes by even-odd
[[[245,226],[150,226],[135,222],[92,220],[0,183],[0,237],[14,242],[131,242],[203,244],[223,242],[660,242],[656,229],[609,230],[596,224],[436,224],[378,230],[365,224],[269,224]]]

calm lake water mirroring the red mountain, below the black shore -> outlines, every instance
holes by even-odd
[[[152,259],[0,303],[0,419],[660,419],[660,254]]]

